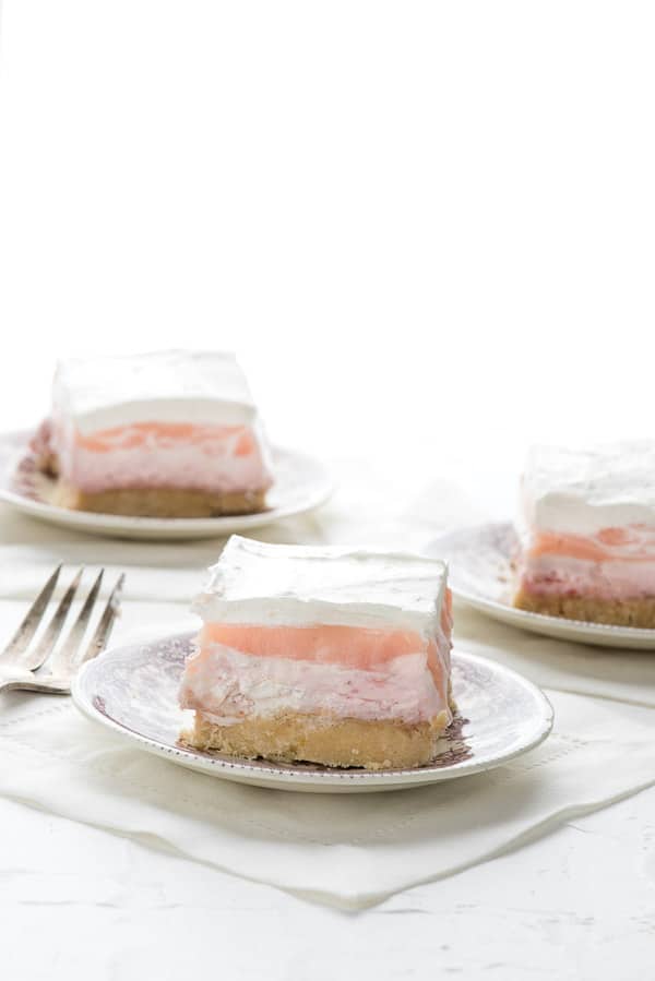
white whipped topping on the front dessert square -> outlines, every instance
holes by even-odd
[[[341,547],[265,545],[233,535],[193,609],[205,622],[439,626],[446,566]]]

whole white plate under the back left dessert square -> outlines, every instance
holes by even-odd
[[[0,433],[0,501],[55,525],[117,538],[211,538],[259,528],[294,514],[311,511],[327,500],[332,481],[318,460],[291,450],[273,447],[275,483],[269,509],[229,517],[124,517],[68,511],[50,503],[55,481],[39,474],[29,457],[31,432]]]

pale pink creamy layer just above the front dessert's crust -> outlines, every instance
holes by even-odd
[[[196,660],[196,665],[193,661]],[[406,654],[374,671],[242,654],[222,644],[190,658],[180,704],[219,726],[282,711],[337,718],[429,721],[448,704],[426,654]]]

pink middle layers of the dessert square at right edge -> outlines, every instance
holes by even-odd
[[[595,535],[536,533],[520,560],[533,594],[636,599],[655,595],[655,528],[633,525]]]

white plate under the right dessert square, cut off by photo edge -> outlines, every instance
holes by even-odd
[[[431,541],[426,552],[448,561],[449,583],[457,599],[495,620],[564,641],[655,650],[655,630],[608,626],[517,610],[511,603],[512,554],[515,549],[516,533],[512,525],[505,523],[452,531]]]

